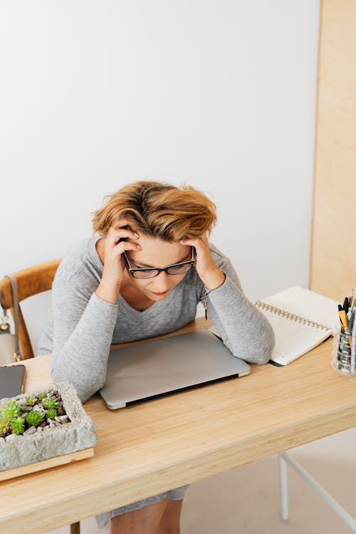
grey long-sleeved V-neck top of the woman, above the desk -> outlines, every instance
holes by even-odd
[[[173,332],[193,320],[205,288],[192,268],[164,300],[144,311],[133,309],[121,295],[117,304],[95,294],[103,263],[95,244],[100,236],[73,247],[53,281],[52,314],[38,355],[53,353],[52,379],[72,382],[82,402],[103,387],[111,343]],[[213,244],[216,266],[226,274],[222,286],[208,294],[208,313],[226,347],[246,362],[265,364],[271,357],[271,325],[246,298],[234,267]]]

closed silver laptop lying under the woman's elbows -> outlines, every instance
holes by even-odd
[[[198,330],[112,350],[99,393],[117,409],[250,371],[216,335]]]

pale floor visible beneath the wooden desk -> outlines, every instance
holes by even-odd
[[[356,429],[300,446],[291,455],[356,517]],[[290,519],[279,518],[277,456],[253,462],[187,490],[182,534],[350,534],[351,529],[288,466]],[[95,519],[80,522],[81,534],[108,534]],[[68,534],[69,527],[51,530]]]

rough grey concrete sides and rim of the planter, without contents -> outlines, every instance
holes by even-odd
[[[0,471],[34,464],[35,462],[88,449],[96,444],[95,424],[86,414],[75,387],[70,382],[55,382],[36,392],[25,393],[14,400],[20,401],[54,389],[61,395],[63,409],[70,422],[61,426],[45,426],[33,434],[11,434],[0,439]],[[0,408],[9,399],[0,400]]]

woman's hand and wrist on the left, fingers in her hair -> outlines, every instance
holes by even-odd
[[[126,219],[120,219],[111,226],[108,236],[105,238],[103,276],[95,293],[98,297],[112,304],[117,303],[124,273],[125,263],[122,252],[141,250],[140,245],[135,243],[139,235],[132,230],[123,228],[128,224]],[[132,239],[133,242],[122,241],[122,239]]]

